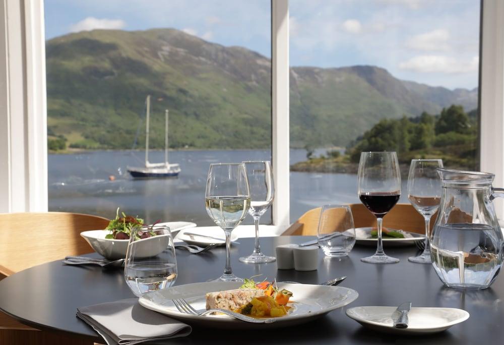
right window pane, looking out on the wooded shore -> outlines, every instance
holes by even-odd
[[[291,220],[359,203],[361,151],[478,169],[479,2],[291,0]]]

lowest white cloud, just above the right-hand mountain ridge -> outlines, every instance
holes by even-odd
[[[420,73],[468,73],[477,71],[478,64],[478,56],[470,61],[460,61],[450,56],[419,55],[400,63],[399,68]]]

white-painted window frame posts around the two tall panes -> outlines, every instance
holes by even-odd
[[[482,1],[480,166],[504,186],[504,2]],[[289,2],[272,0],[273,233],[289,219]],[[0,212],[47,211],[43,0],[0,10]],[[498,207],[502,215],[502,207]]]

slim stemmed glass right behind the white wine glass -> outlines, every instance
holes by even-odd
[[[259,245],[259,219],[273,203],[275,187],[273,186],[273,172],[269,161],[243,162],[247,170],[248,184],[250,186],[250,208],[248,214],[254,218],[256,225],[256,246],[254,252],[240,261],[245,263],[265,263],[275,261],[274,256],[261,253]]]

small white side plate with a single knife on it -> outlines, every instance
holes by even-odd
[[[348,317],[373,330],[395,334],[428,334],[442,332],[469,318],[469,313],[456,308],[412,307],[408,328],[396,328],[397,307],[355,307],[347,309]]]

